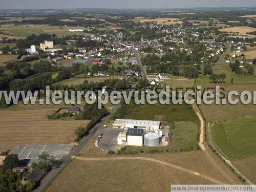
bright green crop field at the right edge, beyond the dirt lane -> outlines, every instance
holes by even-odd
[[[255,117],[219,122],[212,131],[215,143],[230,160],[256,155]]]

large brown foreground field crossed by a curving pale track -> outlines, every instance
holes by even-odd
[[[217,183],[241,182],[212,152],[107,155],[92,140],[46,191],[169,191],[170,184]]]

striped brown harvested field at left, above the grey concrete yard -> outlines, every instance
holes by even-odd
[[[23,144],[64,144],[74,141],[86,120],[47,120],[51,110],[0,111],[0,152]]]

